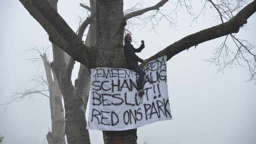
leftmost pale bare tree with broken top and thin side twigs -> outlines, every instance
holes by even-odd
[[[5,105],[6,108],[9,104],[21,101],[26,97],[32,99],[32,101],[34,102],[34,94],[40,94],[49,98],[52,129],[51,131],[49,130],[48,134],[46,135],[48,144],[65,144],[65,118],[62,105],[62,94],[59,88],[58,81],[56,79],[56,75],[54,71],[52,71],[49,60],[47,59],[47,50],[48,48],[46,50],[43,49],[43,51],[41,52],[38,48],[35,47],[25,51],[36,51],[39,53],[40,57],[35,57],[27,60],[31,60],[33,62],[40,62],[40,64],[43,63],[46,78],[44,78],[43,74],[38,73],[30,80],[31,82],[35,83],[33,87],[26,88],[22,91],[14,91],[10,99],[1,105]],[[40,66],[40,64],[38,65],[38,67]]]

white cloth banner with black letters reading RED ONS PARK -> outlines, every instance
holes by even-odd
[[[120,131],[172,119],[166,76],[166,56],[144,68],[143,89],[138,96],[139,75],[116,68],[91,69],[90,108],[87,129]]]

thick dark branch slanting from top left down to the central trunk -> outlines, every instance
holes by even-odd
[[[63,51],[90,68],[87,57],[88,46],[67,25],[63,18],[52,8],[46,0],[20,0],[49,35],[49,40]]]

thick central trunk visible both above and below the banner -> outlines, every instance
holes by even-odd
[[[125,68],[123,0],[97,1],[96,67]],[[137,144],[137,129],[103,131],[105,144]]]

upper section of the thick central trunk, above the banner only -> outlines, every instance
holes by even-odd
[[[96,4],[96,67],[124,68],[123,36],[126,20],[123,0],[98,0]]]

